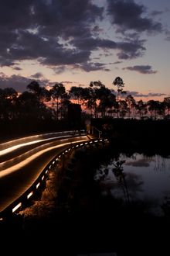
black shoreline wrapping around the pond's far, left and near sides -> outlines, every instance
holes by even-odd
[[[14,216],[4,226],[1,223],[1,238],[12,244],[12,248],[8,247],[10,252],[22,243],[19,255],[32,254],[32,251],[38,255],[53,255],[55,251],[59,256],[104,252],[117,252],[117,256],[170,253],[169,217],[143,214],[141,206],[122,208],[121,202],[109,196],[107,199],[100,197],[100,188],[93,182],[93,170],[111,155],[136,152],[168,157],[170,150],[165,146],[170,142],[170,122],[119,119],[113,120],[111,125],[113,129],[103,130],[103,135],[110,140],[107,147],[90,147],[89,151],[78,154],[73,178],[66,187],[65,202],[58,205],[57,199],[56,209],[47,216],[32,216],[29,221]],[[95,126],[102,129],[101,120]],[[63,188],[64,184],[60,185]]]

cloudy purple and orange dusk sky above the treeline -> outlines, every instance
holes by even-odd
[[[170,96],[169,0],[2,0],[0,88],[66,89],[119,76],[135,99]]]

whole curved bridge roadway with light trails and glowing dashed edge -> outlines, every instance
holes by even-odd
[[[26,206],[63,154],[106,141],[91,140],[82,130],[39,134],[0,144],[0,220]]]

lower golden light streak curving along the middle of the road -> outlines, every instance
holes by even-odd
[[[82,138],[81,140],[76,140],[75,143],[82,142],[82,141],[84,141],[85,138],[87,139],[86,136],[83,136],[81,138]],[[71,144],[70,142],[67,142],[67,143],[59,144],[59,145],[56,145],[56,146],[53,146],[53,147],[48,147],[44,150],[40,150],[36,154],[33,154],[32,156],[26,158],[24,161],[21,161],[19,164],[15,164],[12,167],[9,167],[9,168],[6,168],[5,170],[0,171],[0,178],[4,177],[5,175],[9,175],[14,171],[18,171],[19,168],[22,168],[22,167],[26,166],[26,164],[29,164],[31,161],[35,160],[36,157],[39,157],[40,155],[46,153],[49,150],[53,150],[55,148],[63,147],[63,146],[70,145],[70,144]]]

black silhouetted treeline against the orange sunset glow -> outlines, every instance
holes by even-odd
[[[114,85],[117,85],[117,80]],[[124,85],[124,84],[123,84]],[[63,129],[68,125],[68,106],[81,105],[83,116],[128,117],[138,119],[165,119],[170,112],[170,97],[162,102],[136,101],[132,95],[117,97],[123,93],[120,85],[117,92],[110,90],[100,81],[91,81],[87,88],[73,86],[68,92],[63,83],[56,83],[47,90],[32,81],[26,92],[16,92],[14,88],[0,88],[0,131]],[[60,124],[60,126],[59,126]]]

